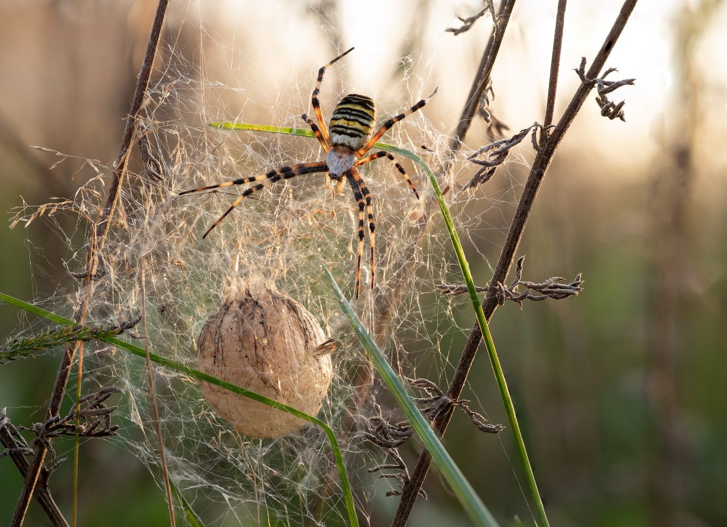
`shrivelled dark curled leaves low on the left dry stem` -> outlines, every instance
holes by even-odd
[[[114,393],[124,393],[124,390],[116,386],[108,386],[81,398],[81,403],[87,403],[79,411],[81,419],[86,420],[85,424],[76,426],[74,421],[76,421],[78,406],[74,404],[71,411],[63,419],[59,416],[51,417],[44,423],[36,423],[33,428],[20,427],[20,430],[31,430],[35,433],[36,439],[34,442],[41,443],[50,453],[52,459],[55,458],[55,450],[49,439],[60,437],[60,435],[76,435],[76,433],[81,438],[105,438],[109,435],[117,435],[119,425],[111,425],[111,413],[119,406],[106,406],[104,403]],[[92,422],[91,419],[95,420]],[[103,427],[100,427],[101,419],[103,419]],[[53,468],[56,466],[57,464]]]

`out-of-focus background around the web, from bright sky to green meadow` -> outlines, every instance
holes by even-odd
[[[353,91],[386,100],[400,93],[402,79],[436,84],[427,116],[451,132],[491,24],[483,17],[457,37],[444,30],[483,3],[370,4],[172,2],[164,38],[188,45],[194,61],[198,28],[214,28],[247,54],[257,88],[278,93],[291,79],[310,84],[310,71],[332,49],[356,45],[362,64],[351,66]],[[520,0],[510,21],[491,109],[513,131],[542,121],[556,4]],[[569,69],[582,55],[590,63],[619,7],[590,0],[569,6],[556,118],[578,84]],[[107,163],[116,157],[154,9],[149,0],[0,4],[0,209],[72,196],[79,186],[71,179],[75,165],[49,171],[58,158],[29,145]],[[491,323],[553,526],[727,525],[725,27],[727,9],[716,0],[637,6],[607,63],[619,68],[619,79],[638,79],[613,97],[627,99],[627,123],[601,118],[587,102],[550,166],[518,250],[527,255],[525,279],[583,273],[585,291],[523,310],[505,305]],[[427,57],[417,62],[426,68],[407,70],[406,60],[398,68],[408,56]],[[477,118],[467,145],[486,142]],[[488,183],[515,187],[473,231],[478,250],[465,246],[481,285],[491,275],[483,256],[497,262],[525,178],[526,167],[514,164]],[[73,232],[74,224],[59,221],[0,230],[0,291],[39,299],[68,280],[68,241],[58,233]],[[471,306],[455,304],[459,326],[471,327]],[[1,335],[23,326],[15,307],[0,306],[0,313]],[[449,361],[456,363],[466,337],[444,337]],[[0,365],[0,407],[15,425],[42,419],[58,361],[43,355]],[[507,422],[483,351],[463,396],[491,422]],[[503,525],[516,517],[533,524],[509,430],[486,436],[455,414],[445,445]],[[406,448],[413,466],[417,454]],[[58,440],[57,449],[72,459],[71,439]],[[84,443],[80,467],[80,525],[168,521],[163,493],[119,446]],[[52,478],[69,517],[72,472],[69,460]],[[0,523],[9,522],[21,486],[12,462],[0,459]],[[430,499],[417,502],[410,525],[470,524],[435,472],[425,489]],[[390,522],[398,504],[383,497],[384,483],[379,490],[372,525]],[[26,525],[47,524],[33,502]]]

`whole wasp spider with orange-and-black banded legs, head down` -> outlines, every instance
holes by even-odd
[[[401,119],[405,118],[410,113],[414,113],[419,110],[419,108],[422,108],[427,101],[434,96],[437,90],[434,90],[434,93],[425,100],[417,102],[417,104],[409,108],[409,110],[400,113],[398,116],[390,118],[373,135],[371,135],[371,127],[376,122],[376,106],[374,105],[374,101],[365,95],[358,95],[355,93],[348,94],[342,98],[341,102],[339,102],[333,110],[333,116],[331,117],[329,125],[331,133],[329,135],[329,131],[326,129],[326,123],[323,120],[321,103],[318,101],[318,94],[321,92],[321,82],[323,81],[324,73],[326,73],[326,68],[341,57],[348,55],[351,51],[353,51],[353,47],[318,70],[316,89],[313,90],[313,96],[311,97],[313,111],[316,112],[316,120],[318,121],[318,124],[313,122],[313,119],[305,115],[305,113],[302,115],[303,120],[308,122],[310,128],[313,129],[313,133],[316,134],[318,141],[321,142],[321,147],[323,147],[326,152],[325,161],[283,166],[279,169],[271,170],[267,174],[260,174],[253,177],[241,177],[238,180],[220,183],[220,185],[210,185],[209,187],[185,190],[180,193],[180,196],[182,196],[182,194],[199,192],[200,190],[210,190],[214,188],[227,187],[229,185],[243,185],[244,183],[261,181],[257,185],[253,185],[241,193],[240,197],[236,199],[229,209],[227,209],[225,214],[222,214],[220,219],[214,222],[212,227],[204,233],[202,238],[205,238],[212,229],[217,227],[218,223],[225,219],[225,216],[232,212],[240,201],[247,196],[250,196],[252,193],[257,192],[268,185],[272,185],[276,181],[289,180],[291,177],[303,174],[325,172],[326,188],[329,188],[328,178],[330,177],[332,180],[337,182],[340,193],[342,191],[342,185],[344,184],[345,178],[345,180],[348,180],[351,185],[353,196],[356,198],[356,201],[358,201],[358,266],[356,267],[356,298],[358,299],[358,289],[361,281],[361,253],[364,250],[364,207],[366,208],[366,213],[369,214],[369,240],[371,241],[371,289],[374,288],[374,230],[376,229],[376,224],[374,223],[374,211],[371,208],[371,193],[369,192],[369,188],[366,187],[366,183],[361,178],[361,174],[358,173],[357,167],[382,157],[390,159],[390,161],[393,161],[398,171],[401,172],[401,175],[406,182],[409,183],[409,187],[414,192],[414,195],[417,196],[417,199],[419,199],[417,189],[414,188],[414,185],[411,183],[411,180],[406,174],[406,171],[403,169],[403,166],[398,164],[394,156],[383,150],[373,153],[370,156],[364,157],[364,155],[372,146],[374,146],[379,138],[394,125],[394,123],[401,121]],[[365,205],[364,200],[366,201]]]

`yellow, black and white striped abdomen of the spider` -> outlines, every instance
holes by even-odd
[[[374,101],[365,95],[348,94],[333,110],[329,125],[331,144],[358,150],[371,137],[371,126],[375,123]]]

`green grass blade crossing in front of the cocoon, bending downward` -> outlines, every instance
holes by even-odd
[[[0,300],[3,300],[4,302],[7,302],[8,304],[15,305],[15,307],[20,307],[20,309],[28,311],[29,313],[39,315],[43,318],[47,318],[49,321],[61,324],[63,326],[72,326],[72,325],[75,326],[75,323],[68,318],[62,317],[60,315],[56,315],[55,313],[51,313],[50,311],[44,310],[43,308],[38,307],[36,305],[28,304],[28,302],[23,302],[23,300],[19,300],[15,297],[10,297],[7,294],[0,293]],[[111,344],[112,346],[121,347],[121,349],[124,349],[124,350],[128,351],[129,353],[133,353],[134,355],[138,355],[142,358],[147,357],[147,353],[143,348],[134,346],[133,344],[126,342],[124,340],[118,339],[116,337],[103,337],[102,339],[99,339],[99,340],[103,340],[103,342],[106,342],[107,344]],[[323,428],[331,442],[333,456],[336,460],[336,466],[338,468],[338,476],[341,481],[341,490],[343,493],[343,497],[345,499],[346,510],[348,510],[348,519],[350,520],[350,524],[352,527],[358,527],[358,517],[356,516],[356,507],[354,507],[354,504],[353,504],[353,494],[351,494],[351,487],[350,487],[350,484],[348,483],[348,475],[346,473],[346,467],[343,464],[343,456],[341,455],[341,448],[338,444],[338,440],[336,439],[336,435],[333,433],[333,430],[331,430],[331,427],[326,425],[326,423],[321,421],[321,419],[318,419],[311,415],[305,414],[304,412],[302,412],[298,409],[295,409],[292,406],[288,406],[286,404],[275,401],[274,399],[267,398],[267,397],[265,397],[265,395],[260,395],[259,393],[255,393],[252,390],[246,390],[243,387],[233,385],[232,383],[223,381],[222,379],[217,379],[217,377],[212,377],[212,375],[202,373],[201,371],[192,369],[177,361],[172,361],[169,358],[161,357],[160,355],[156,355],[156,353],[149,353],[148,357],[150,358],[151,361],[156,362],[157,364],[160,364],[161,366],[166,366],[166,368],[172,369],[174,371],[179,371],[180,373],[186,374],[189,377],[192,377],[193,379],[197,379],[198,381],[209,382],[209,384],[211,384],[211,385],[219,386],[221,388],[224,388],[225,390],[230,390],[230,392],[232,392],[232,393],[236,393],[238,395],[243,395],[244,397],[251,398],[254,401],[258,401],[263,404],[267,404],[268,406],[272,406],[273,408],[276,408],[278,410],[286,411],[289,414],[292,414],[296,417],[300,417],[301,419],[305,419],[306,421],[312,422],[312,423],[318,425],[319,427]]]

